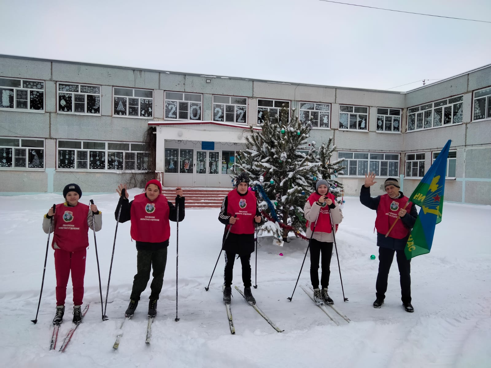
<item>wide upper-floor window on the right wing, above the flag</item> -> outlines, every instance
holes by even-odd
[[[408,129],[417,131],[462,123],[464,96],[408,108]]]

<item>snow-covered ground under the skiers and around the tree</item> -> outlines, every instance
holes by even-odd
[[[136,195],[139,190],[130,190]],[[103,229],[96,233],[103,297],[114,239],[116,194],[82,196],[103,211]],[[135,242],[129,223],[119,224],[112,266],[110,319],[101,321],[101,303],[93,234],[89,233],[84,303],[90,308],[65,353],[49,351],[55,313],[55,270],[49,249],[38,323],[33,324],[46,252],[42,216],[56,194],[0,197],[0,361],[2,367],[490,367],[491,247],[489,206],[445,203],[430,254],[411,262],[415,312],[404,311],[394,260],[385,304],[372,308],[378,255],[373,234],[375,211],[358,198],[345,197],[344,220],[336,235],[341,264],[343,302],[336,257],[331,262],[329,294],[351,319],[337,326],[297,288],[292,295],[307,242],[293,239],[284,247],[271,237],[259,240],[258,306],[285,331],[278,333],[232,289],[236,335],[231,335],[221,301],[223,254],[205,291],[220,252],[223,226],[218,210],[187,210],[179,226],[179,298],[176,317],[176,224],[171,223],[164,288],[145,344],[149,288],[132,320],[123,328],[117,351],[112,344],[128,305],[136,272]],[[51,242],[51,239],[50,239]],[[283,256],[279,256],[282,253]],[[255,284],[252,255],[252,282]],[[309,258],[299,284],[309,283]],[[240,262],[234,285],[242,287]],[[58,346],[70,327],[71,281],[65,322]]]

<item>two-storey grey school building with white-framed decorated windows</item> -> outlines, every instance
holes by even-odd
[[[491,205],[491,64],[393,92],[0,55],[0,195],[149,177],[231,188],[249,127],[282,105],[313,120],[310,140],[334,138],[345,195],[368,171],[403,178],[409,195],[451,139],[445,200]]]

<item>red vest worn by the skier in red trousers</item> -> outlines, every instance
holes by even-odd
[[[56,205],[54,216],[55,232],[51,246],[67,252],[75,252],[89,246],[89,225],[87,216],[89,206],[78,203],[75,207],[65,206],[64,203]]]

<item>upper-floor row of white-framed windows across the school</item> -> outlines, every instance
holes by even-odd
[[[101,114],[101,86],[57,82],[57,111],[73,114]],[[0,78],[0,109],[44,111],[45,84],[39,80]],[[175,120],[202,120],[203,95],[165,92],[164,117]],[[113,87],[113,115],[153,117],[153,90]],[[462,123],[464,96],[408,108],[407,131]],[[474,92],[473,120],[491,117],[491,88]],[[281,107],[290,109],[284,100],[258,99],[257,123],[271,121]],[[299,119],[314,128],[330,128],[331,104],[300,102]],[[379,132],[400,132],[402,110],[377,108]],[[247,98],[213,96],[213,121],[247,123]],[[339,129],[367,131],[368,106],[339,105]]]

